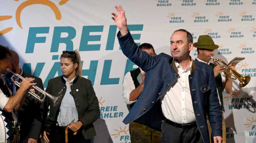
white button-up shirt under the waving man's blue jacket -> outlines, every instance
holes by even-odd
[[[162,112],[168,120],[175,123],[192,123],[196,121],[188,82],[192,61],[185,70],[176,61],[175,65],[178,68],[179,77],[170,90],[161,98]]]

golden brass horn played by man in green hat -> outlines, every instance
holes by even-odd
[[[232,73],[230,73],[229,67],[227,67],[227,64],[223,60],[213,59],[213,57],[211,57],[211,58],[212,58],[213,63],[215,65],[221,65],[222,64],[222,66],[225,69],[224,73],[228,78],[239,80],[239,87],[245,87],[249,83],[249,81],[251,79],[251,77],[249,75],[247,75],[246,77],[243,77],[241,74],[239,74],[238,72],[236,72],[235,70],[232,70],[232,69],[231,69]],[[219,64],[219,62],[221,64]]]

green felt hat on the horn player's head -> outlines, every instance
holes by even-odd
[[[209,35],[200,35],[197,42],[195,42],[193,45],[197,48],[210,50],[218,49],[219,47],[218,45],[214,44],[212,37]]]

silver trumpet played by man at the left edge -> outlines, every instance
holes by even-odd
[[[22,77],[22,76],[19,75],[19,74],[13,73],[10,69],[6,69],[6,71],[13,74],[12,77],[11,77],[12,82],[13,82],[14,84],[16,84],[16,86],[21,87],[21,83],[15,81],[15,80],[13,79],[13,77],[16,76],[16,77],[20,78],[21,80],[23,80],[24,77]],[[46,98],[46,96],[47,96],[47,97],[49,97],[49,98],[52,100],[52,102],[54,102],[54,105],[57,104],[57,100],[58,100],[59,97],[52,96],[50,93],[45,92],[43,89],[41,89],[41,88],[38,87],[38,86],[32,86],[32,88],[34,88],[35,91],[38,91],[38,92],[39,92],[38,94],[35,94],[34,92],[28,91],[28,93],[31,95],[31,97],[33,97],[35,100],[38,100],[38,101],[40,101],[40,102],[44,102],[44,101],[45,101],[45,98]],[[39,96],[39,94],[41,94],[41,95]]]

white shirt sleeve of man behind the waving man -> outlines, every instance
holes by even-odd
[[[128,72],[127,74],[125,74],[124,76],[124,84],[123,84],[123,97],[124,97],[124,102],[127,103],[127,104],[132,104],[133,102],[136,102],[137,100],[135,101],[129,101],[129,98],[130,98],[130,93],[135,89],[135,85],[133,83],[133,80],[132,80],[132,76],[131,76],[131,73]]]

